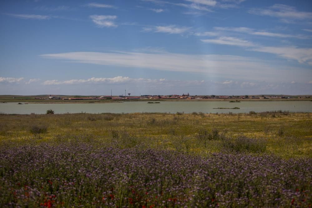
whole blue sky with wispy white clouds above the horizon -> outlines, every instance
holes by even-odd
[[[312,2],[2,0],[0,94],[312,94]]]

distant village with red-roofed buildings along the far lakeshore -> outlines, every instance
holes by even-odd
[[[140,95],[140,96],[128,96],[119,95],[103,95],[103,96],[72,96],[72,97],[62,97],[59,95],[50,95],[48,97],[36,97],[35,99],[62,99],[62,100],[101,100],[101,99],[111,99],[111,100],[137,100],[137,99],[162,99],[162,100],[192,100],[192,99],[289,99],[293,97],[285,97],[285,96],[228,96],[228,95],[190,95],[188,94],[172,94],[172,95]],[[300,98],[300,97],[296,97]],[[304,98],[304,97],[303,97]]]

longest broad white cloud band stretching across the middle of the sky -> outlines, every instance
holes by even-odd
[[[311,76],[310,70],[290,67],[280,62],[259,60],[242,56],[230,55],[186,55],[168,52],[70,52],[41,55],[46,58],[68,60],[71,62],[109,65],[149,70],[202,73],[211,76],[222,76],[225,79],[284,79],[292,81],[298,76]],[[131,69],[129,69],[131,70]],[[290,80],[291,79],[291,80]],[[57,80],[53,80],[58,82]]]

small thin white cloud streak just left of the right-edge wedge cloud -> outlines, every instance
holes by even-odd
[[[255,46],[250,41],[242,40],[235,37],[219,37],[218,39],[205,39],[201,40],[204,43],[213,43],[213,44],[220,44],[220,45],[230,45],[230,46],[241,46],[241,47],[251,47]]]

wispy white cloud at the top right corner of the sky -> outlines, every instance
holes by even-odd
[[[297,20],[304,20],[304,19],[311,19],[312,12],[300,12],[295,7],[290,7],[284,4],[274,4],[273,6],[267,9],[250,9],[249,13],[261,15],[261,16],[271,16],[271,17],[278,17],[281,19],[297,19]]]

